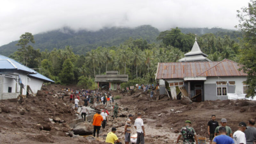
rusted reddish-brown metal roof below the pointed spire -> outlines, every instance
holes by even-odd
[[[247,76],[238,69],[243,65],[232,60],[206,62],[163,62],[158,64],[156,79],[196,76]]]

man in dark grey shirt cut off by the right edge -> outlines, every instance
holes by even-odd
[[[256,128],[254,127],[255,120],[249,119],[247,129],[244,131],[246,137],[246,144],[253,144],[256,140]]]

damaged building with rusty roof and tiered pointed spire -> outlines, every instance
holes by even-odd
[[[160,94],[165,93],[167,82],[173,99],[176,99],[176,89],[197,102],[245,98],[247,74],[238,70],[243,65],[228,59],[207,59],[196,39],[192,50],[184,55],[179,62],[158,63],[156,79]]]

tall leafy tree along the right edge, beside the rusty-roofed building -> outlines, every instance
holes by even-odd
[[[251,0],[248,7],[237,11],[239,18],[239,30],[244,34],[241,63],[243,71],[248,74],[246,97],[254,97],[256,94],[256,0]]]

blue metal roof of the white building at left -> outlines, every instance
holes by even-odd
[[[22,65],[18,61],[15,61],[11,58],[8,58],[8,57],[3,56],[3,55],[0,54],[0,70],[1,69],[16,69],[16,70],[26,71],[26,72],[29,73],[28,76],[32,76],[32,77],[35,77],[37,79],[41,79],[44,82],[53,82],[54,83],[53,80],[39,74],[35,70]]]

